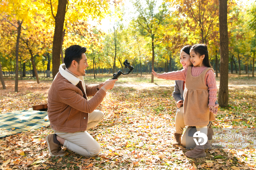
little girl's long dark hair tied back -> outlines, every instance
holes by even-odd
[[[197,55],[199,55],[199,57],[201,55],[204,55],[204,59],[203,59],[203,65],[206,66],[206,67],[211,67],[212,68],[212,65],[209,61],[209,55],[208,55],[208,50],[207,50],[207,46],[205,44],[196,44],[196,45],[193,45],[190,49],[191,50],[194,50],[195,53]]]

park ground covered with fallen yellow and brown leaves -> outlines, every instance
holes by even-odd
[[[87,76],[85,80],[87,84],[97,84],[109,77],[98,76],[94,80]],[[248,147],[214,147],[204,158],[190,159],[184,154],[188,151],[185,147],[173,148],[174,81],[155,80],[160,86],[148,87],[149,81],[150,75],[130,75],[120,78],[117,85],[134,86],[117,86],[108,91],[98,107],[105,113],[105,119],[88,131],[101,145],[102,151],[97,157],[82,157],[67,148],[63,148],[64,157],[50,157],[45,138],[53,131],[45,127],[1,138],[1,169],[256,169],[256,134],[251,134]],[[1,113],[47,102],[51,80],[42,80],[40,84],[34,80],[19,81],[18,93],[14,92],[14,80],[5,83],[7,90],[0,90]],[[219,108],[214,128],[255,130],[256,79],[230,75],[229,84],[229,107]]]

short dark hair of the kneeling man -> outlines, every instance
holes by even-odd
[[[82,54],[86,52],[86,47],[81,47],[79,45],[72,45],[65,50],[64,63],[66,68],[71,66],[73,60],[80,62],[82,59]]]

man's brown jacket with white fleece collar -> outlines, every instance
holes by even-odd
[[[87,85],[84,92],[83,83],[65,71],[65,64],[60,65],[48,94],[48,117],[53,130],[69,133],[86,131],[88,113],[98,107],[106,92]],[[87,100],[87,96],[93,97]]]

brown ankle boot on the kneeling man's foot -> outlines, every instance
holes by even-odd
[[[56,134],[46,136],[49,153],[52,157],[63,157],[65,152],[61,150],[60,143],[56,139]]]

